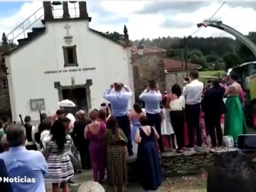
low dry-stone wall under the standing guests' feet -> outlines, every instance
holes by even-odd
[[[223,153],[237,153],[237,148],[226,148],[222,150],[204,150],[203,152],[196,152],[194,150],[185,151],[183,154],[176,154],[175,152],[167,152],[161,156],[161,171],[162,178],[171,178],[175,176],[188,176],[204,174],[208,168],[213,164],[216,156]],[[137,182],[137,164],[136,157],[127,160],[128,179],[130,182]]]

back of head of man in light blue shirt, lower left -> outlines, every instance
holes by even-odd
[[[26,140],[26,130],[21,124],[10,124],[6,127],[6,138],[9,146],[22,146]]]

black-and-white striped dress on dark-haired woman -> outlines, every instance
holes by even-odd
[[[46,151],[50,151],[46,162],[48,164],[48,173],[44,176],[47,183],[67,182],[74,176],[73,166],[70,161],[68,151],[71,147],[71,137],[66,135],[67,142],[64,144],[64,149],[60,151],[55,141],[50,141],[46,144]]]

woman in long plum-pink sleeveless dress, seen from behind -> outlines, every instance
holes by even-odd
[[[105,141],[104,123],[97,121],[97,112],[90,112],[91,123],[85,127],[85,139],[89,140],[89,151],[92,162],[94,181],[102,183],[105,178],[107,162],[107,143]]]

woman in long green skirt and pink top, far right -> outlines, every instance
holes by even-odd
[[[237,80],[238,75],[232,73],[230,75],[232,84],[229,87],[225,87],[225,95],[228,95],[228,98],[225,102],[227,110],[225,113],[224,134],[232,136],[235,144],[238,144],[239,134],[247,133],[245,114],[239,97],[242,88]]]

